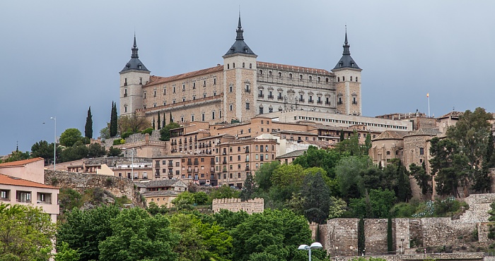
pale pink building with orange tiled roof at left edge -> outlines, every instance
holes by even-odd
[[[59,214],[59,189],[44,184],[44,159],[0,164],[0,202],[41,207],[53,222]]]

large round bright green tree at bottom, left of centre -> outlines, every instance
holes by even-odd
[[[124,209],[110,224],[111,236],[98,245],[100,260],[177,260],[173,248],[180,235],[167,217],[150,216],[139,207]]]

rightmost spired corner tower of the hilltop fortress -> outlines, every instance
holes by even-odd
[[[362,115],[361,103],[361,71],[363,71],[351,57],[349,42],[347,42],[347,28],[344,40],[344,52],[332,72],[335,74],[337,112],[347,115]]]

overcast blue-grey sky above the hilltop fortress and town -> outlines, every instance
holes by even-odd
[[[0,155],[93,136],[119,102],[119,71],[136,33],[151,75],[223,63],[238,12],[257,61],[330,71],[345,26],[362,71],[363,116],[495,112],[495,1],[0,1]],[[117,106],[118,108],[118,106]]]

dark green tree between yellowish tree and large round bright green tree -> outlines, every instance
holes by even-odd
[[[106,205],[85,211],[74,208],[67,212],[66,221],[59,224],[57,230],[57,250],[66,242],[69,248],[78,250],[81,260],[98,260],[98,243],[112,236],[110,224],[119,213],[117,206]]]

